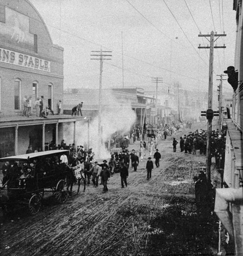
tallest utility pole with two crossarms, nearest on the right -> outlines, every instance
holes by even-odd
[[[207,133],[207,148],[206,148],[206,179],[208,184],[211,182],[211,138],[212,138],[212,92],[213,92],[213,50],[214,48],[226,48],[226,46],[214,46],[214,41],[216,41],[221,36],[226,36],[226,34],[215,34],[213,31],[211,34],[203,35],[199,34],[199,37],[210,37],[210,46],[200,46],[199,49],[207,48],[210,49],[209,53],[209,80],[208,80],[208,110],[206,113],[208,119],[208,133]],[[217,37],[215,40],[214,38]]]

